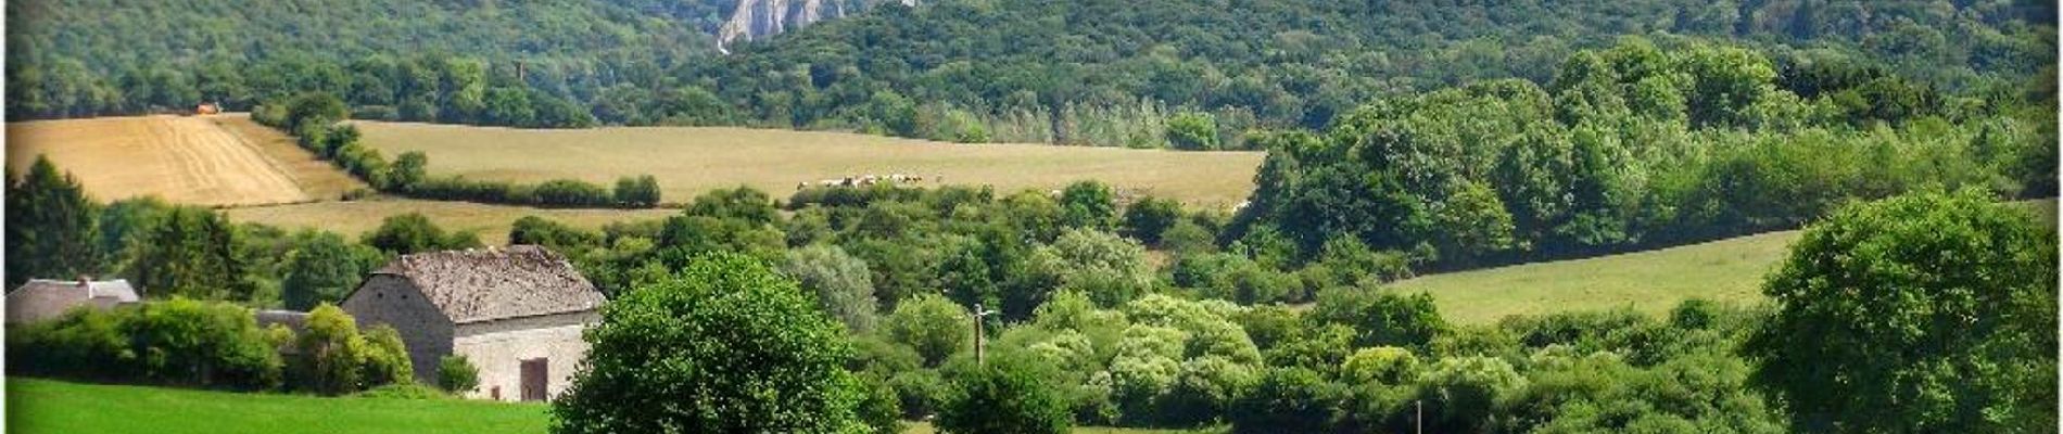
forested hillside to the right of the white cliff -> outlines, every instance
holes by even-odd
[[[1252,125],[1324,128],[1382,95],[1545,84],[1566,56],[1622,35],[1729,39],[1776,68],[1884,64],[1956,93],[2018,88],[2055,64],[2051,16],[2042,2],[961,0],[811,27],[683,76],[743,109],[724,121],[1203,146],[1164,130],[1215,123],[1223,144]]]

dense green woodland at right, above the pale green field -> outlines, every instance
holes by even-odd
[[[1269,160],[1223,237],[1296,257],[1349,237],[1467,267],[1795,228],[1927,185],[2053,195],[2055,111],[2030,101],[2055,95],[1985,97],[1626,39],[1545,86],[1483,80],[1378,99],[1324,134],[1256,134]]]

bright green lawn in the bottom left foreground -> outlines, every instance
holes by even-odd
[[[545,405],[221,393],[6,378],[6,432],[545,432]]]

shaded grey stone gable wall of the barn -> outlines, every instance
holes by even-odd
[[[359,329],[392,325],[400,331],[400,341],[408,346],[408,362],[415,364],[415,378],[425,385],[437,383],[437,360],[452,354],[456,325],[425,300],[413,282],[392,274],[367,276],[342,309],[359,321]]]

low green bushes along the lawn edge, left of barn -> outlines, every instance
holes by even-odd
[[[173,298],[76,309],[8,327],[6,341],[14,354],[8,374],[326,395],[415,378],[392,327],[359,333],[332,304],[318,306],[301,335],[283,325],[260,329],[252,311],[237,304]],[[281,356],[287,348],[295,352]]]

